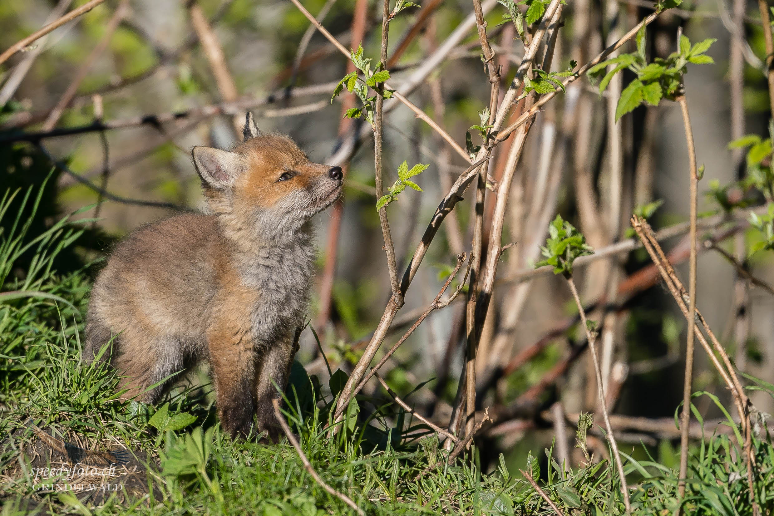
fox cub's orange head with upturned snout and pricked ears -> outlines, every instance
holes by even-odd
[[[231,151],[191,149],[215,214],[293,231],[341,194],[341,167],[310,162],[286,135],[262,133],[249,112],[244,136]]]

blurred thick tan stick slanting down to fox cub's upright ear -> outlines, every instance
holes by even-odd
[[[197,38],[199,38],[201,48],[204,50],[204,56],[207,57],[207,63],[209,63],[215,78],[217,91],[226,102],[237,100],[239,92],[237,91],[234,77],[231,76],[231,71],[228,70],[228,63],[226,63],[226,57],[220,40],[217,39],[217,35],[196,0],[190,2],[188,10],[191,17],[191,25],[194,26],[194,31]],[[245,124],[245,113],[242,111],[235,113],[231,121],[235,134],[241,135],[242,126]]]

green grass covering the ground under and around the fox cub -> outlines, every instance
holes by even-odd
[[[87,220],[77,214],[29,234],[29,224],[8,213],[12,195],[36,207],[33,190],[8,192],[0,203],[0,499],[11,514],[355,514],[318,485],[295,450],[253,439],[232,441],[221,432],[206,385],[176,388],[151,407],[116,400],[118,378],[101,364],[80,361],[88,269],[55,270]],[[26,199],[24,197],[26,196]],[[9,219],[10,217],[10,219]],[[16,217],[16,220],[14,220]],[[29,256],[22,265],[19,257]],[[366,514],[553,514],[502,456],[483,474],[475,455],[447,464],[446,452],[423,425],[389,402],[358,398],[341,432],[324,429],[345,380],[337,371],[326,388],[296,365],[286,417],[320,477],[351,497]],[[751,388],[774,388],[753,382]],[[331,394],[327,394],[330,391]],[[699,395],[712,396],[707,393]],[[722,405],[713,397],[717,406]],[[139,487],[100,500],[84,493],[35,490],[29,450],[40,428],[88,449],[131,450],[141,470]],[[728,425],[737,426],[729,417]],[[584,449],[582,425],[578,446]],[[774,509],[774,449],[765,424],[755,436],[755,500]],[[22,453],[21,450],[27,450]],[[623,514],[615,467],[588,457],[565,470],[546,450],[540,470],[530,454],[522,469],[543,484],[563,514]],[[656,460],[625,463],[635,514],[673,514],[680,506],[675,470]],[[752,514],[738,436],[717,434],[697,443],[682,500],[686,514]],[[420,476],[420,473],[423,473]],[[418,478],[417,478],[418,477]],[[49,484],[67,479],[48,477]]]

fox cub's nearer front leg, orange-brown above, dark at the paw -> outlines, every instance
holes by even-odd
[[[207,343],[221,427],[236,437],[246,436],[252,427],[256,371],[252,331],[233,323],[233,319],[214,323],[207,331]]]

